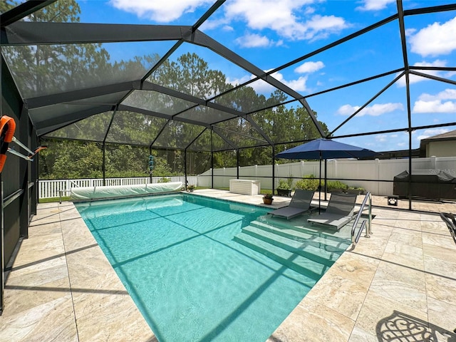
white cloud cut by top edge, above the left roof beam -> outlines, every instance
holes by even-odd
[[[112,6],[122,11],[136,14],[140,18],[148,18],[167,23],[180,18],[185,12],[195,11],[199,6],[212,4],[210,0],[110,0]]]

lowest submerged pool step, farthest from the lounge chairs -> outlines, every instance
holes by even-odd
[[[326,266],[325,264],[318,264],[316,261],[289,252],[286,249],[277,247],[264,240],[257,239],[257,237],[252,237],[252,235],[244,232],[234,236],[234,241],[239,242],[239,244],[243,244],[256,252],[264,254],[266,257],[279,262],[279,264],[282,264],[289,269],[293,269],[304,276],[308,276],[315,281],[318,281],[329,268],[329,266]]]

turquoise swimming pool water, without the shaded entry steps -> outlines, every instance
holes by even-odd
[[[265,341],[328,269],[240,243],[268,223],[261,207],[187,194],[76,207],[162,342]]]

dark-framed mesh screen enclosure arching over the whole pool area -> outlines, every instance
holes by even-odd
[[[302,177],[276,174],[291,164],[278,152],[331,138],[379,152],[368,173],[351,164],[334,180],[371,185],[375,176],[375,186],[392,187],[399,172],[386,177],[378,165],[393,158],[412,174],[455,176],[455,155],[418,158],[421,140],[456,130],[454,0],[150,4],[1,1],[0,115],[30,150],[48,146],[29,160],[6,153],[2,290],[36,214],[39,175],[58,163],[71,171],[81,156],[90,162],[78,167],[104,179],[138,177],[129,169],[154,155],[162,172],[205,175],[207,187],[221,187],[214,170],[256,179],[239,173],[259,165],[261,186],[274,192],[279,177]],[[422,210],[423,182],[400,182],[407,209]],[[386,207],[390,194],[377,195]],[[0,311],[3,300],[2,291]]]

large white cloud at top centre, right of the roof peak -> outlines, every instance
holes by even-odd
[[[227,20],[244,20],[251,29],[269,28],[279,36],[291,40],[314,39],[338,33],[348,26],[341,17],[314,15],[314,9],[306,6],[314,2],[315,0],[232,0],[224,5],[224,10]]]

